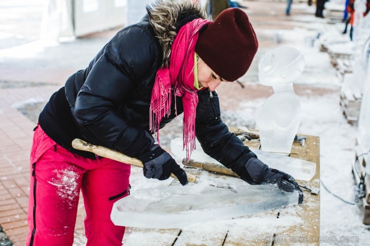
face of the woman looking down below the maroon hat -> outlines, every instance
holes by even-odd
[[[214,91],[216,87],[224,80],[208,67],[207,64],[199,57],[198,59],[198,81],[199,85]]]

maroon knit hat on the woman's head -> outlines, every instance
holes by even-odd
[[[257,48],[248,16],[234,7],[223,10],[199,33],[195,52],[222,79],[235,81],[246,73]]]

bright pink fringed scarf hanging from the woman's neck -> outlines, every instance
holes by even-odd
[[[149,129],[156,132],[158,144],[160,120],[170,114],[171,89],[174,89],[175,96],[182,97],[182,133],[186,161],[195,149],[195,113],[198,104],[197,89],[194,88],[195,44],[198,31],[209,22],[198,18],[180,28],[171,47],[169,67],[158,69],[151,92]],[[177,112],[175,113],[177,115]]]

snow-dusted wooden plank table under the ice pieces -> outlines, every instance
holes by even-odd
[[[304,146],[296,142],[293,143],[290,157],[316,163],[316,172],[313,178],[310,181],[298,182],[305,186],[319,188],[319,138],[305,137]],[[259,140],[246,141],[244,144],[252,148],[260,147]],[[268,163],[266,164],[268,165]],[[193,172],[206,171],[194,170]],[[220,176],[220,178],[222,177]],[[195,225],[183,230],[126,228],[128,235],[123,238],[123,243],[125,246],[319,245],[320,195],[311,195],[305,190],[303,193],[303,204],[245,218],[222,222],[214,221],[205,227],[204,225]]]

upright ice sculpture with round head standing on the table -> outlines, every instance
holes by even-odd
[[[300,122],[300,102],[293,81],[304,69],[302,53],[280,46],[264,53],[258,62],[259,82],[272,86],[274,94],[255,111],[261,149],[290,153]]]

